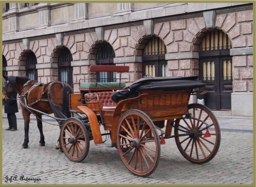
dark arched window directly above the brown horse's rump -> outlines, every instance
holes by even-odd
[[[71,67],[73,61],[72,54],[68,48],[61,48],[58,57],[58,74],[59,81],[69,84],[73,87],[73,68]]]

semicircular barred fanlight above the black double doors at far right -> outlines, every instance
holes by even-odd
[[[211,31],[202,39],[199,51],[228,50],[231,48],[231,41],[227,34],[222,31]]]

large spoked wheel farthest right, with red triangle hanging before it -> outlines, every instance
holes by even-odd
[[[221,143],[217,119],[204,105],[188,105],[188,113],[175,123],[175,141],[180,153],[189,161],[204,164],[216,155]],[[179,136],[186,134],[188,136]]]

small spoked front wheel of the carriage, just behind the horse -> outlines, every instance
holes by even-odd
[[[86,127],[77,118],[67,119],[61,127],[61,148],[71,161],[83,161],[89,152],[90,141]]]

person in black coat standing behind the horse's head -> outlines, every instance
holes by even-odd
[[[4,103],[4,113],[7,113],[7,119],[9,123],[9,128],[6,130],[17,130],[17,119],[15,113],[18,112],[18,105],[17,105],[17,93],[11,94],[9,96],[10,99],[5,101]]]

